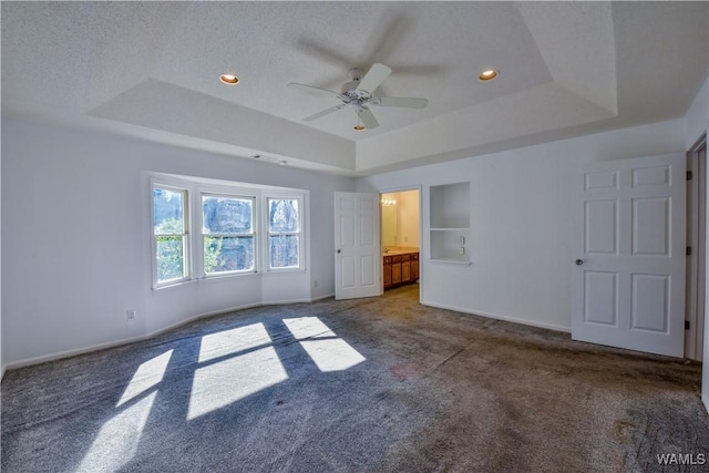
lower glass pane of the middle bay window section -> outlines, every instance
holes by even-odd
[[[205,237],[205,273],[254,269],[254,237]]]

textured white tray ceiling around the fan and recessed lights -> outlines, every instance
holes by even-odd
[[[681,116],[707,2],[3,2],[2,113],[368,174]],[[352,130],[348,71],[393,72]],[[477,80],[489,68],[492,82]],[[222,84],[222,72],[242,82]]]

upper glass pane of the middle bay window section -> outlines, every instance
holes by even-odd
[[[205,234],[250,234],[253,232],[250,198],[202,196]]]

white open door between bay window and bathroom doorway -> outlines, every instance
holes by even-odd
[[[335,298],[381,295],[379,195],[335,193]]]

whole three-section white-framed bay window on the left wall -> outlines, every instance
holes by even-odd
[[[150,185],[153,288],[306,268],[307,191],[158,173]]]

